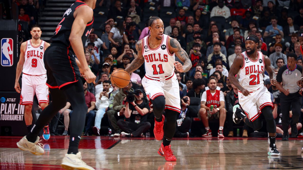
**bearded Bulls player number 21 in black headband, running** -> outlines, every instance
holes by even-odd
[[[258,130],[262,127],[262,113],[266,120],[266,129],[269,134],[268,155],[280,155],[275,145],[276,123],[272,114],[274,105],[267,88],[263,85],[262,73],[267,71],[270,82],[276,85],[276,75],[271,67],[271,62],[266,55],[258,52],[259,38],[249,35],[245,40],[246,51],[238,55],[231,65],[228,78],[239,90],[239,105],[233,108],[233,121],[239,124],[243,120],[251,128]],[[237,75],[237,79],[235,77]]]

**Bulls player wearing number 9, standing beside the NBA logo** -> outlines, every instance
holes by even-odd
[[[42,31],[39,25],[33,25],[32,39],[23,42],[20,47],[20,59],[16,69],[15,90],[20,93],[20,104],[24,106],[24,119],[28,132],[32,129],[32,105],[36,94],[41,109],[48,105],[48,87],[46,86],[46,70],[43,55],[49,43],[40,39]],[[19,85],[20,74],[22,74],[22,90]],[[43,129],[43,139],[50,137],[48,125]]]

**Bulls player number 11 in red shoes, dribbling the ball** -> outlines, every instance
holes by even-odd
[[[176,161],[170,142],[175,134],[176,117],[181,106],[174,66],[180,72],[187,72],[191,68],[191,60],[177,40],[163,34],[164,25],[159,17],[149,19],[148,29],[150,35],[136,43],[138,57],[125,70],[132,73],[145,62],[146,74],[142,85],[155,114],[155,139],[163,139],[158,154],[164,156],[166,161]],[[175,61],[175,55],[183,65]],[[163,129],[164,110],[166,123]]]

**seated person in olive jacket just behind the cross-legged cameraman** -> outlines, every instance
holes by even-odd
[[[129,81],[129,84],[126,87],[120,89],[119,93],[114,96],[113,109],[108,110],[107,112],[108,119],[111,122],[113,130],[115,131],[114,136],[120,136],[121,134],[121,129],[117,124],[117,119],[124,119],[124,112],[126,109],[125,101],[127,99],[127,95],[129,92],[134,91],[131,87],[132,82]]]

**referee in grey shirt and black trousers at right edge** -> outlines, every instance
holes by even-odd
[[[297,123],[300,117],[302,106],[300,87],[297,81],[302,77],[302,67],[297,65],[297,55],[294,53],[287,54],[287,64],[281,67],[277,74],[276,87],[281,91],[280,108],[282,112],[282,141],[288,141],[289,111],[292,110],[290,122],[291,136],[297,136]],[[282,83],[282,85],[281,85]]]

